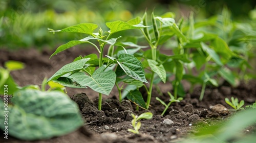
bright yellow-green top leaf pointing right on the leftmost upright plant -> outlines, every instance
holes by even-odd
[[[123,31],[123,30],[146,28],[146,26],[143,26],[141,24],[131,25],[128,22],[124,22],[120,20],[113,21],[113,22],[106,22],[106,26],[110,28],[110,34]]]

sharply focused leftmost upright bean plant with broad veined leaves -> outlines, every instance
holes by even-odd
[[[146,26],[141,24],[133,25],[133,23],[133,21],[107,22],[106,26],[110,29],[110,31],[105,33],[101,28],[97,33],[94,33],[98,27],[94,23],[80,23],[79,25],[71,26],[62,30],[49,29],[50,32],[75,32],[89,35],[83,39],[72,40],[66,44],[60,45],[51,55],[51,57],[81,43],[89,43],[94,46],[98,51],[99,57],[96,54],[79,56],[72,63],[60,68],[51,78],[48,79],[48,82],[54,81],[61,85],[72,88],[90,87],[99,93],[99,110],[101,110],[102,94],[108,96],[116,83],[117,75],[115,71],[117,68],[120,68],[120,70],[118,70],[119,73],[127,75],[135,80],[147,83],[142,63],[131,54],[128,54],[124,47],[117,43],[117,40],[122,37],[119,36],[111,38],[114,33],[123,30],[146,28]],[[96,41],[98,45],[96,45],[93,41]],[[110,55],[106,55],[108,58],[103,57],[103,51],[106,45],[110,45],[109,51],[112,51],[108,53]],[[125,45],[138,46],[132,42],[125,43]],[[115,46],[121,46],[124,52],[113,55]],[[115,68],[114,65],[116,64],[118,66],[116,66],[115,71],[111,70]],[[98,68],[96,69],[95,67]]]

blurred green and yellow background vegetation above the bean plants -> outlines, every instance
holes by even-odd
[[[237,21],[256,23],[256,1],[214,1],[214,0],[1,0],[0,2],[0,48],[1,49],[54,49],[61,43],[79,39],[76,34],[52,34],[54,30],[66,28],[82,22],[96,23],[107,30],[104,23],[114,20],[127,21],[155,11],[161,15],[171,11],[178,20],[188,17],[190,11],[196,19],[220,14],[226,6]]]

